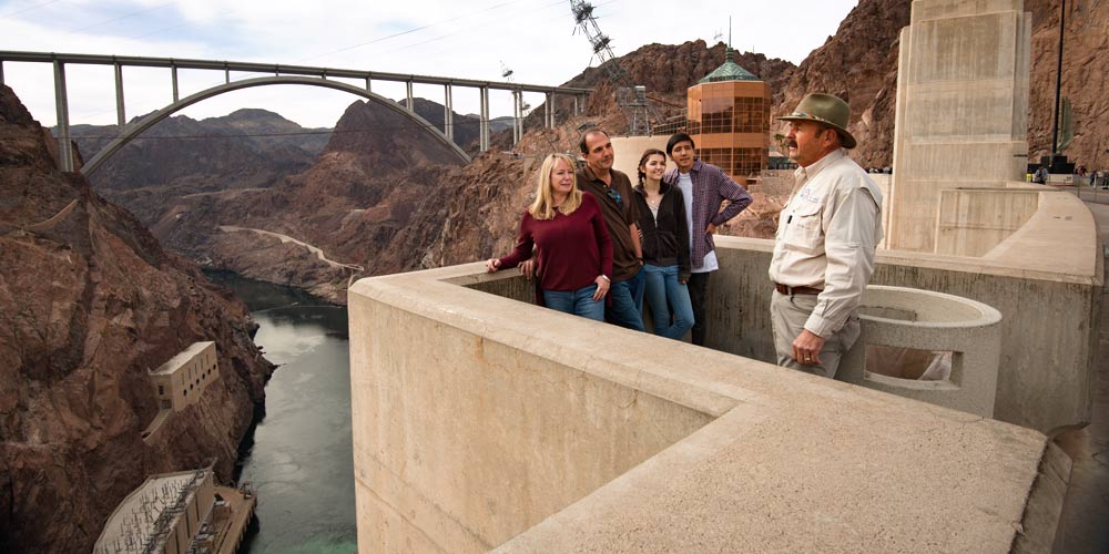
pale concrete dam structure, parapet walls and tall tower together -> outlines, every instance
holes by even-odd
[[[1105,267],[1081,201],[1010,176],[1027,19],[914,2],[845,381],[772,363],[772,240],[715,237],[708,348],[535,306],[479,263],[358,281],[359,552],[1050,552],[1071,466],[1051,439],[1091,417]],[[886,375],[871,347],[950,366]]]

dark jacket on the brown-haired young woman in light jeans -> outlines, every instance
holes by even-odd
[[[659,184],[662,201],[655,223],[651,207],[647,205],[647,193],[642,185],[635,187],[635,204],[639,206],[639,229],[643,232],[643,263],[652,266],[678,266],[678,280],[690,278],[690,227],[685,217],[685,199],[676,186]]]

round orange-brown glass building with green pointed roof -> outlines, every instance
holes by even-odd
[[[686,93],[686,129],[698,155],[743,183],[766,167],[770,152],[770,85],[735,63],[729,48],[723,65]]]

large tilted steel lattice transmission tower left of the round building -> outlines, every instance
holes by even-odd
[[[612,88],[617,91],[617,105],[620,106],[620,111],[623,112],[631,127],[629,132],[633,135],[651,134],[651,119],[661,121],[662,117],[647,99],[647,89],[632,85],[628,72],[623,70],[620,61],[612,53],[612,48],[609,47],[612,39],[602,33],[601,28],[597,24],[597,18],[593,17],[593,4],[584,0],[570,0],[570,11],[573,12],[573,21],[578,28],[593,45],[593,55],[601,61],[601,66],[608,72],[609,83],[612,83]]]

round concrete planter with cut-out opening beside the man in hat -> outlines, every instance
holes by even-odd
[[[862,335],[836,379],[993,417],[999,311],[943,293],[873,285],[863,295],[859,322]]]

